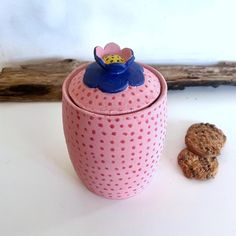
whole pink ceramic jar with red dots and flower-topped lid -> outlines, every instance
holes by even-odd
[[[76,173],[92,192],[124,199],[142,191],[158,166],[166,134],[163,76],[114,43],[63,84],[63,125]]]

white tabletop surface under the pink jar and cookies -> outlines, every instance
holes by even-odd
[[[186,179],[176,157],[189,125],[227,135],[215,179]],[[90,193],[70,163],[61,103],[0,103],[0,235],[236,235],[236,87],[169,91],[154,181],[128,200]]]

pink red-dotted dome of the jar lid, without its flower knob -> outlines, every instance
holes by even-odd
[[[98,114],[125,114],[134,112],[153,103],[160,94],[160,83],[151,71],[144,69],[145,83],[138,87],[129,86],[119,93],[103,93],[88,88],[83,83],[85,69],[72,79],[69,85],[71,99],[79,107]]]

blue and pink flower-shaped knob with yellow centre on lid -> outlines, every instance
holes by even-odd
[[[117,93],[144,83],[143,67],[134,62],[132,49],[121,50],[119,45],[109,43],[104,49],[95,47],[94,57],[96,62],[87,67],[83,78],[88,87]]]

